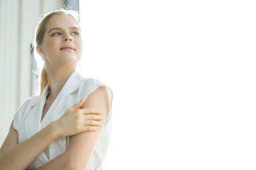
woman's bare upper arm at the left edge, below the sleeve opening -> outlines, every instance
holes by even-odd
[[[18,132],[13,128],[13,121],[12,121],[8,135],[6,136],[4,143],[0,148],[0,157],[4,154],[4,152],[9,150],[13,146],[17,145],[18,143],[19,143]]]

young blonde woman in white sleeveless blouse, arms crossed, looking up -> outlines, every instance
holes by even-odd
[[[113,92],[77,70],[83,46],[77,17],[75,11],[56,10],[38,23],[40,95],[16,111],[0,149],[0,169],[102,169]]]

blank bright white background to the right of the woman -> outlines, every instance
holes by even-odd
[[[255,1],[80,1],[113,90],[104,169],[255,169]]]

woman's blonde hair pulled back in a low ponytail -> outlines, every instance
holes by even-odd
[[[77,24],[79,25],[79,29],[80,29],[78,12],[74,11],[74,10],[68,10],[68,7],[62,6],[61,10],[56,10],[56,11],[46,13],[46,14],[42,15],[42,17],[40,18],[38,25],[36,26],[35,38],[33,41],[34,49],[35,49],[36,45],[42,45],[43,39],[44,39],[44,34],[45,34],[45,27],[46,27],[46,24],[49,21],[49,19],[51,17],[53,17],[54,15],[60,15],[60,14],[72,16],[74,18],[74,20],[76,20]],[[81,31],[81,29],[80,29],[80,31]],[[38,92],[39,92],[39,95],[41,95],[48,83],[47,72],[46,72],[45,66],[42,66],[43,65],[42,63],[44,63],[44,62],[42,61],[42,58],[40,56],[38,56],[38,53],[36,53],[36,50],[34,50],[34,55],[35,55],[35,59],[37,62],[36,74],[38,74],[38,84],[39,84]],[[40,77],[39,77],[39,75],[40,75]]]

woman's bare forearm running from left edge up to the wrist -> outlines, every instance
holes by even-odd
[[[6,151],[0,158],[0,170],[26,169],[47,146],[59,138],[55,130],[56,125],[52,122],[31,138]]]

